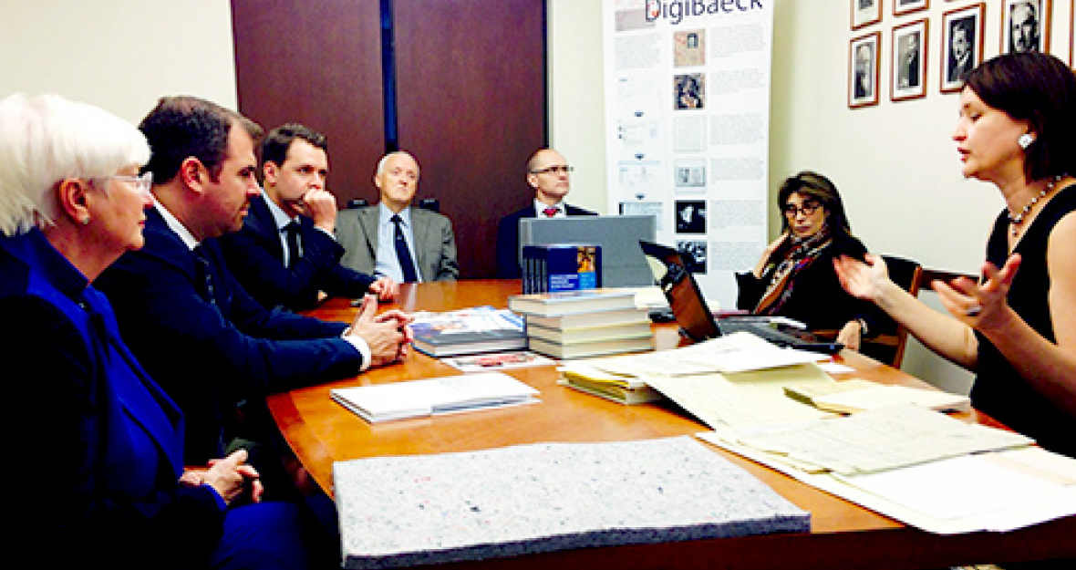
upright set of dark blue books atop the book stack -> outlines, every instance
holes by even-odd
[[[601,287],[601,246],[551,243],[523,246],[523,293]]]

